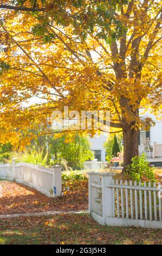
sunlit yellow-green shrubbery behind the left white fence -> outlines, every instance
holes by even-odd
[[[34,131],[33,131],[34,133]],[[37,132],[35,132],[37,133]],[[1,155],[0,155],[1,156]],[[3,155],[4,157],[4,155]],[[83,168],[86,160],[93,159],[90,143],[87,137],[73,133],[73,135],[38,136],[31,140],[23,152],[11,151],[8,159],[14,157],[18,162],[28,162],[51,166],[67,162],[68,167]]]

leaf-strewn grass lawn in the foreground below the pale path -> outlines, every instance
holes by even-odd
[[[88,214],[0,220],[0,244],[160,244],[160,230],[102,227]]]

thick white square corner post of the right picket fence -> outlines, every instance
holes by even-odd
[[[115,173],[101,173],[102,188],[102,217],[113,217],[113,193],[112,187],[107,187],[113,183]]]

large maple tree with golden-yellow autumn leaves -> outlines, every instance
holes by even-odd
[[[139,108],[161,105],[161,1],[2,2],[1,142],[28,144],[64,106],[108,110],[127,166]]]

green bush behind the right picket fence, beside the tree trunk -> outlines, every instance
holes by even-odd
[[[133,180],[144,180],[155,182],[154,169],[146,161],[145,154],[142,156],[135,156],[132,158],[132,163],[127,166],[126,173],[129,174]]]

